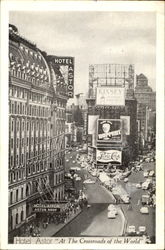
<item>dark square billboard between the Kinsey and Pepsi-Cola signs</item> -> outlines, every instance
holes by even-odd
[[[97,142],[121,142],[122,120],[121,119],[99,119],[97,126]]]

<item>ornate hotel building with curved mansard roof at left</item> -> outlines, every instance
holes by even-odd
[[[68,86],[53,58],[9,26],[9,233],[64,198]]]

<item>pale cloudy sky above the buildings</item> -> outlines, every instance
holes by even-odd
[[[75,57],[75,94],[88,89],[89,64],[134,64],[156,89],[154,12],[12,11],[9,22],[48,55]]]

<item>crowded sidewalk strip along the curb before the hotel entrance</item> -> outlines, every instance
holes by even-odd
[[[63,227],[65,227],[68,223],[70,223],[74,218],[76,218],[82,210],[80,209],[75,214],[73,213],[70,218],[66,221],[66,223],[60,223],[58,225],[54,223],[50,223],[47,228],[40,228],[40,237],[52,237],[54,236],[58,231],[60,231]]]

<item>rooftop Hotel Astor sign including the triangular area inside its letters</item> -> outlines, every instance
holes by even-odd
[[[67,85],[69,98],[74,97],[74,57],[48,56],[55,66],[59,68]]]

